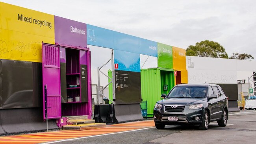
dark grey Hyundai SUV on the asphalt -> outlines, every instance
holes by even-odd
[[[210,122],[217,121],[226,126],[228,120],[228,98],[219,85],[176,85],[163,100],[154,107],[154,122],[157,129],[165,125],[198,125],[207,130]]]

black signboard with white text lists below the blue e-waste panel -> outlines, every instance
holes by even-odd
[[[141,73],[115,70],[116,104],[141,103]]]

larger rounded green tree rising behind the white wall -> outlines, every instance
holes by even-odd
[[[199,57],[218,57],[226,59],[228,58],[228,54],[226,53],[223,46],[221,46],[218,42],[209,40],[197,42],[195,46],[188,46],[186,55]]]

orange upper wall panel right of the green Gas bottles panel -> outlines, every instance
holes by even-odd
[[[173,46],[173,69],[186,70],[186,50]]]

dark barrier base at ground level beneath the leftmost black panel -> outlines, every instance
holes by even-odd
[[[58,129],[56,120],[48,120],[48,129]],[[1,109],[0,135],[45,131],[42,108]]]

